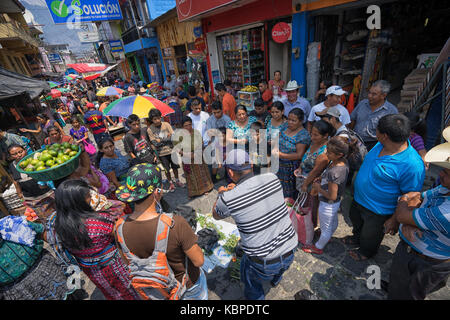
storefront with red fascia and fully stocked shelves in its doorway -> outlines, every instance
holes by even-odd
[[[276,70],[285,81],[290,77],[291,40],[277,43],[272,29],[279,22],[291,22],[292,1],[221,1],[218,7],[191,8],[192,15],[202,18],[207,40],[209,84],[228,79],[239,90],[269,80]],[[200,3],[197,4],[200,6]],[[183,7],[178,5],[178,16]],[[268,10],[270,8],[270,10]],[[213,91],[213,90],[211,90]]]

